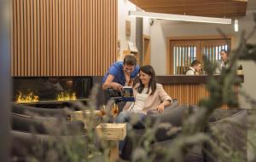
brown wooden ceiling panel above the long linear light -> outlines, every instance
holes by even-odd
[[[155,13],[210,17],[244,16],[247,0],[130,0],[137,7]]]

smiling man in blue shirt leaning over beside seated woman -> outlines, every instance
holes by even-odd
[[[102,89],[122,90],[123,86],[132,86],[134,78],[139,72],[137,60],[134,55],[125,55],[124,61],[117,61],[109,67],[102,79]]]

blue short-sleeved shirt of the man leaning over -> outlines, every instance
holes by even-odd
[[[108,74],[112,74],[114,76],[113,78],[113,82],[121,84],[121,85],[125,85],[125,73],[123,71],[123,61],[117,61],[115,63],[113,63],[113,65],[111,67],[108,68],[108,72],[105,74],[104,78],[102,79],[102,84],[106,81],[106,79],[108,78]],[[134,68],[134,71],[131,72],[131,78],[135,78],[139,72],[139,68],[138,66],[136,66]]]

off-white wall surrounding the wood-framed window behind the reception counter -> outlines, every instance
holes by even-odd
[[[254,10],[255,11],[255,10]],[[256,12],[256,11],[255,11]],[[239,32],[234,32],[234,25],[215,25],[195,22],[181,22],[168,20],[154,20],[151,26],[151,65],[154,67],[157,75],[166,74],[166,38],[167,37],[189,37],[189,36],[210,36],[219,35],[217,28],[221,29],[226,35],[232,37],[232,49],[237,47],[241,32],[249,32],[255,23],[253,21],[253,12],[248,11],[247,16],[239,19]],[[251,43],[256,43],[256,33],[250,39]],[[256,99],[256,64],[252,61],[241,62],[244,69],[245,83],[242,89],[247,91]],[[240,97],[241,98],[241,97]],[[243,107],[249,107],[245,101],[241,100]]]

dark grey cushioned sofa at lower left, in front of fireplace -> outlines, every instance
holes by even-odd
[[[13,105],[10,161],[86,160],[88,137],[84,123],[70,122],[68,115],[64,109]]]

